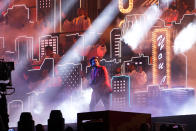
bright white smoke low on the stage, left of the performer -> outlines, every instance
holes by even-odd
[[[31,92],[28,93],[29,100],[24,103],[23,111],[31,112],[35,124],[47,125],[51,110],[61,110],[65,123],[76,123],[77,113],[89,111],[91,93],[92,89],[73,91],[64,100],[49,100],[50,102],[46,102],[42,99],[44,94]],[[66,92],[64,92],[65,94]],[[17,126],[16,122],[19,120],[20,114],[21,111],[19,110],[12,112],[9,124],[11,127]]]

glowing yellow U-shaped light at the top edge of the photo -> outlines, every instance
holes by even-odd
[[[129,6],[127,9],[124,9],[124,7],[123,7],[123,0],[119,0],[118,8],[119,8],[120,12],[123,14],[127,14],[127,13],[131,12],[133,9],[133,0],[129,0]]]

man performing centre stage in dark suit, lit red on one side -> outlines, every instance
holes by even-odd
[[[94,111],[96,104],[101,99],[106,110],[109,109],[109,96],[112,92],[112,88],[109,82],[108,72],[105,66],[99,64],[97,57],[92,57],[90,59],[90,64],[92,66],[91,70],[91,80],[90,86],[93,89],[91,102],[90,102],[90,111]]]

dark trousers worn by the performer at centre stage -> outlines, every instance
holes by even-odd
[[[95,110],[96,104],[99,102],[99,100],[104,104],[104,107],[106,110],[109,110],[110,107],[110,93],[101,93],[96,90],[93,90],[92,95],[91,95],[91,102],[89,105],[90,111]]]

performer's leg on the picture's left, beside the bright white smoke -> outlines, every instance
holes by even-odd
[[[90,102],[90,105],[89,105],[89,110],[90,111],[95,110],[95,106],[99,102],[100,99],[101,99],[100,94],[97,93],[96,91],[93,91],[92,95],[91,95],[91,102]]]

